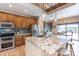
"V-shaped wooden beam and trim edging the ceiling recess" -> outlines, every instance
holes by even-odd
[[[41,8],[41,9],[44,9],[44,11],[46,11],[47,14],[50,14],[50,13],[56,12],[58,10],[67,8],[71,5],[74,5],[75,3],[57,3],[55,5],[52,5],[52,7],[50,7],[49,5],[44,3],[44,8],[43,8],[43,3],[32,3],[32,4]]]

